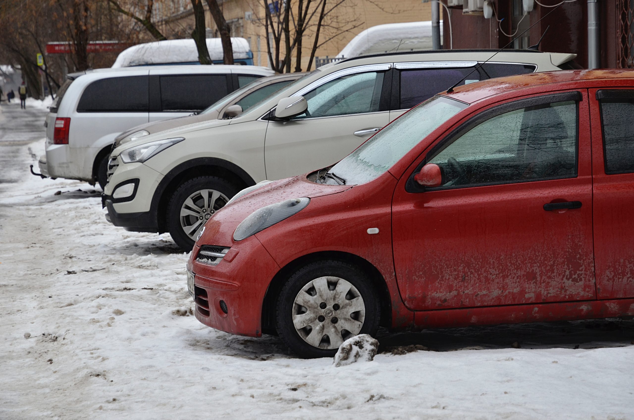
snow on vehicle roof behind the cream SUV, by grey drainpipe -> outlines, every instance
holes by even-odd
[[[443,21],[440,21],[443,31]],[[360,32],[341,50],[337,57],[432,49],[432,22],[385,23]]]

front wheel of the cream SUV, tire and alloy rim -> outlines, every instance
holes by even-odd
[[[191,251],[207,220],[240,191],[217,176],[198,176],[176,189],[167,207],[167,230],[184,251]]]

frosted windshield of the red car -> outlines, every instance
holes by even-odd
[[[419,141],[466,107],[466,103],[434,96],[379,131],[329,172],[346,180],[346,185],[370,182],[384,174]]]

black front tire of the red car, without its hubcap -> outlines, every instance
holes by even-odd
[[[307,343],[295,329],[292,319],[295,298],[299,292],[313,280],[327,276],[347,280],[363,298],[365,318],[358,334],[370,334],[373,336],[377,333],[378,325],[380,324],[380,300],[377,289],[366,273],[352,264],[337,260],[318,261],[303,266],[289,277],[287,283],[281,289],[275,314],[276,328],[281,339],[291,351],[302,358],[333,357],[338,350],[338,348],[318,348]],[[328,320],[325,322],[328,322]]]

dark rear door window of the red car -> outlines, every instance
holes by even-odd
[[[634,172],[634,102],[602,102],[605,173]]]

